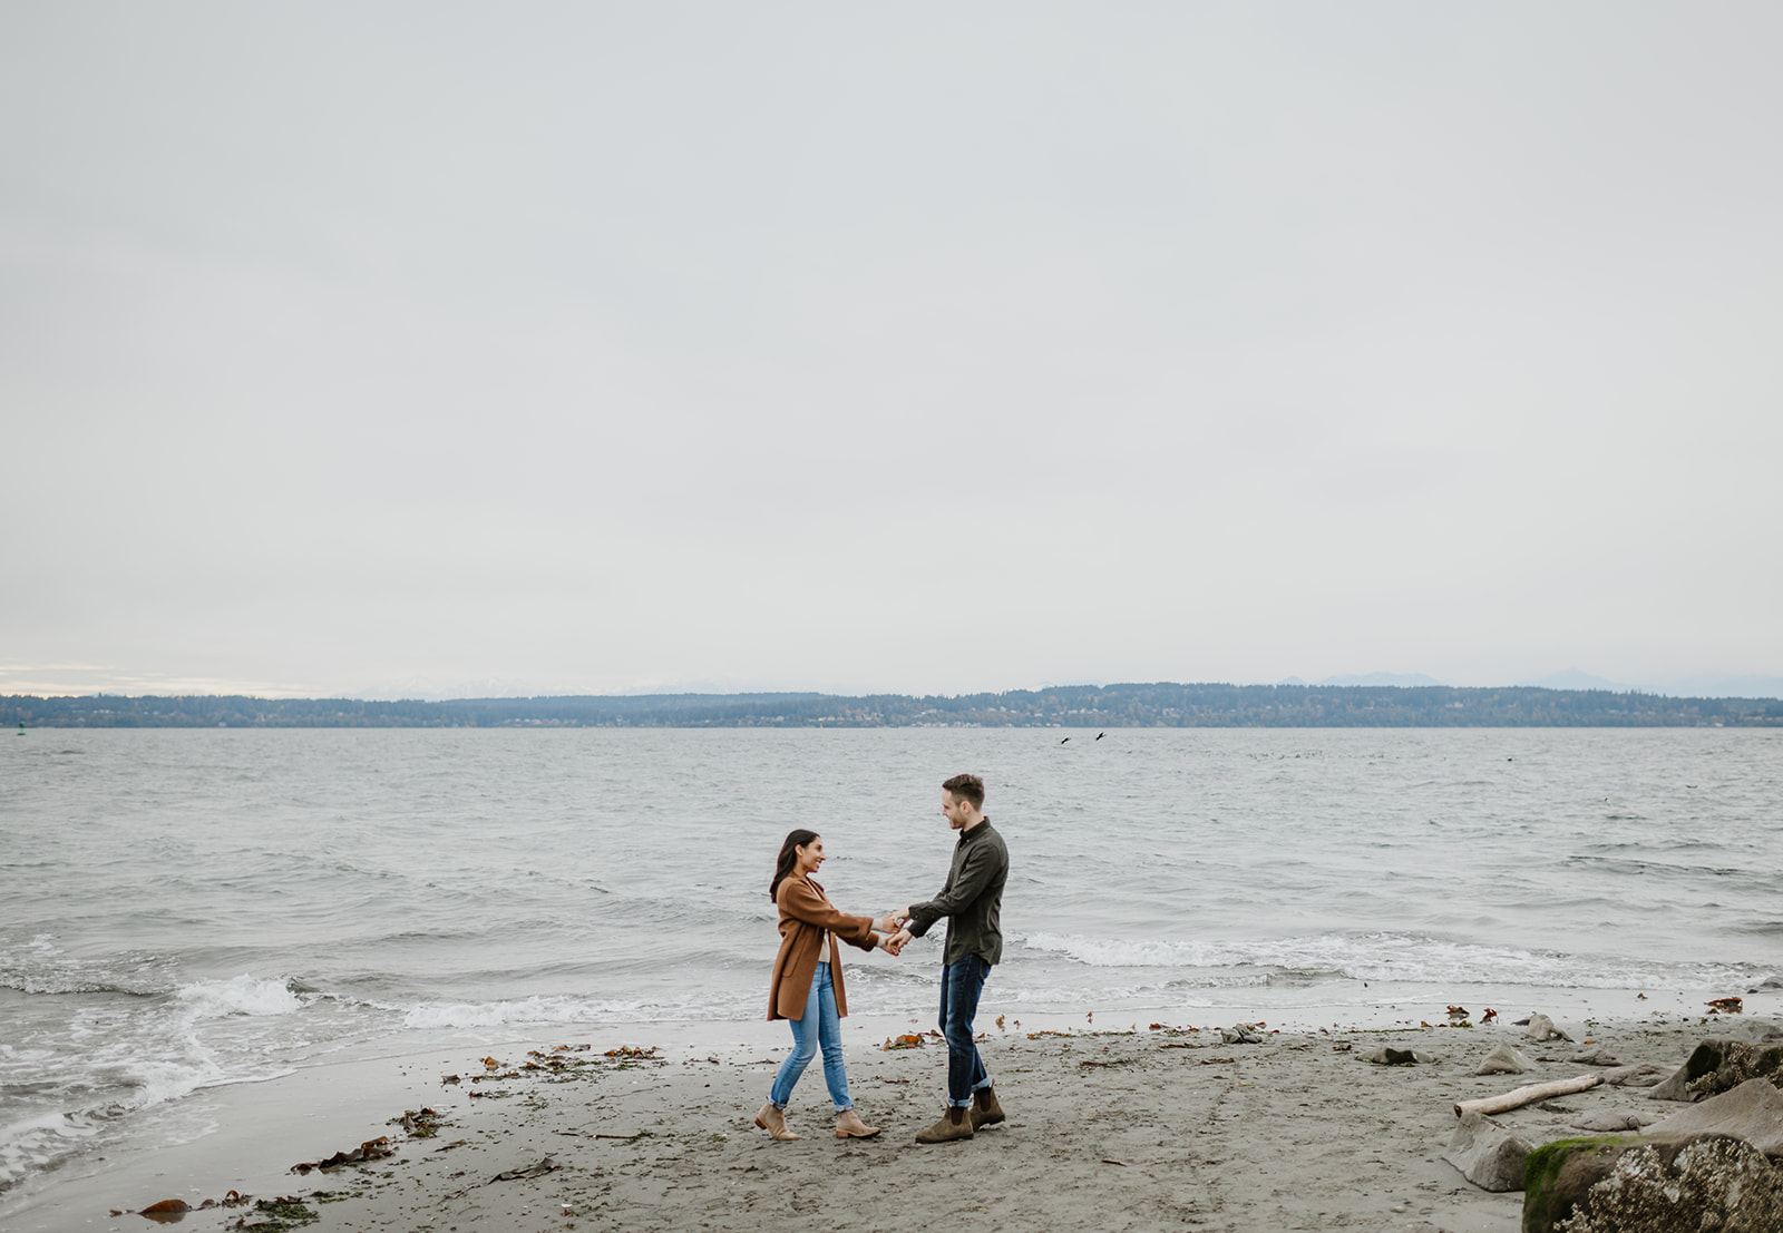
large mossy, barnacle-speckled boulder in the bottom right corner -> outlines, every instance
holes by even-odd
[[[1562,1139],[1524,1165],[1523,1233],[1779,1228],[1783,1169],[1742,1139]]]

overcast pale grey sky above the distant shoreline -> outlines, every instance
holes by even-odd
[[[0,9],[0,691],[1783,674],[1774,4]]]

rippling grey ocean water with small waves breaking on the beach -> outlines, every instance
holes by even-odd
[[[1783,971],[1783,732],[39,729],[0,745],[0,1190],[328,1058],[760,1021],[786,830],[843,910],[927,898],[959,770],[1013,861],[990,1014]],[[931,1014],[938,950],[850,951],[850,1008]]]

